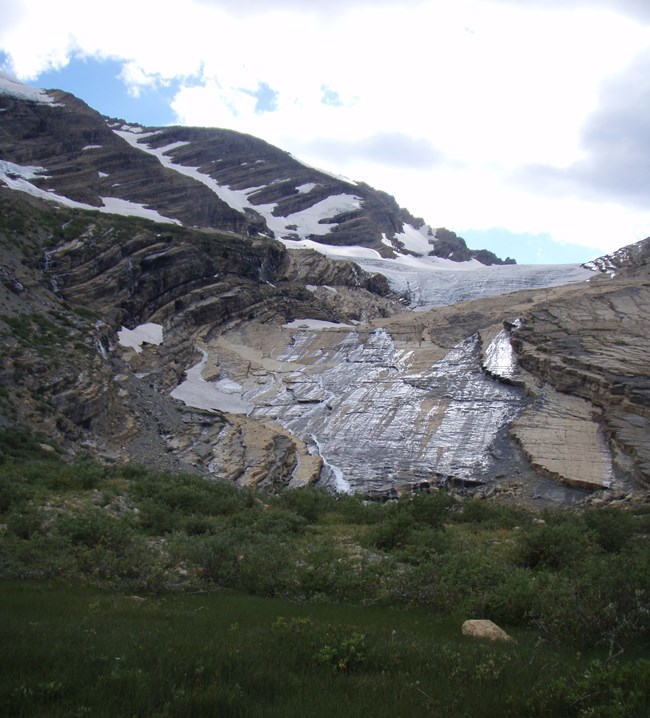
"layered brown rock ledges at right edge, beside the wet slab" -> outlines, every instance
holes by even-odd
[[[645,483],[650,481],[648,306],[650,277],[641,267],[573,290],[561,302],[532,308],[522,315],[512,339],[524,369],[559,392],[562,402],[569,401],[562,397],[577,399],[583,418],[586,413],[597,422],[613,450],[614,468]],[[544,391],[536,393],[547,405]],[[575,445],[558,438],[565,451],[575,453]],[[603,443],[601,436],[594,439],[592,458]],[[587,457],[583,461],[590,466]],[[601,480],[599,472],[587,468],[587,473],[592,482]]]

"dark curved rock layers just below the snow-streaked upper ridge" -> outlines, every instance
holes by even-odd
[[[305,280],[326,279],[377,300],[388,294],[382,277],[308,254],[316,261],[301,267],[273,241],[89,217],[73,239],[47,250],[45,273],[61,296],[93,306],[111,327],[155,317],[191,331],[251,311],[291,318],[315,303]]]

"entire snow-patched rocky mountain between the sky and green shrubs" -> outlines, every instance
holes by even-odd
[[[270,491],[647,492],[645,244],[488,266],[253,137],[6,78],[0,122],[2,423]]]

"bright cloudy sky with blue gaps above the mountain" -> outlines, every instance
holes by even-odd
[[[650,236],[648,0],[2,0],[0,70],[255,135],[519,263]]]

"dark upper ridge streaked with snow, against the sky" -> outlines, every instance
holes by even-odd
[[[0,171],[15,188],[29,182],[27,191],[71,207],[183,226],[370,247],[382,256],[436,253],[435,230],[390,195],[308,167],[255,137],[141,127],[103,117],[67,93],[25,95],[23,88],[0,78]],[[456,250],[459,259],[501,262],[457,237],[439,244],[440,256]]]

